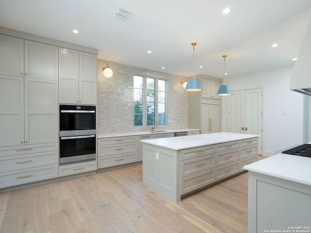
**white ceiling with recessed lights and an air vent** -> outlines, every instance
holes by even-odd
[[[111,17],[118,7],[133,15],[126,22]],[[224,15],[225,7],[232,12]],[[223,78],[224,54],[227,78],[293,66],[310,18],[311,0],[0,0],[2,27],[185,77],[193,72],[191,42],[195,74]]]

